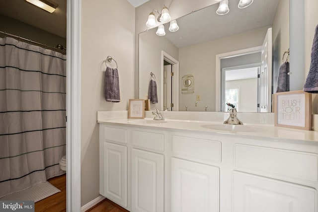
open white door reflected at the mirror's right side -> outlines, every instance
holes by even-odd
[[[261,54],[260,112],[271,112],[272,99],[272,28],[268,28]]]

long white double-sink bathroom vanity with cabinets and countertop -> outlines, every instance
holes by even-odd
[[[316,131],[184,120],[98,123],[100,194],[128,211],[317,212]]]

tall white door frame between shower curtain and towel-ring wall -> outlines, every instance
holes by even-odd
[[[67,0],[66,208],[80,212],[80,5]]]

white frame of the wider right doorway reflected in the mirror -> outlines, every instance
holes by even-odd
[[[215,56],[215,111],[221,111],[221,59],[249,55],[262,51],[262,46],[255,46],[233,52],[226,52]]]

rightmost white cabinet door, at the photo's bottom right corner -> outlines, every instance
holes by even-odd
[[[233,212],[316,212],[316,190],[235,171]]]

